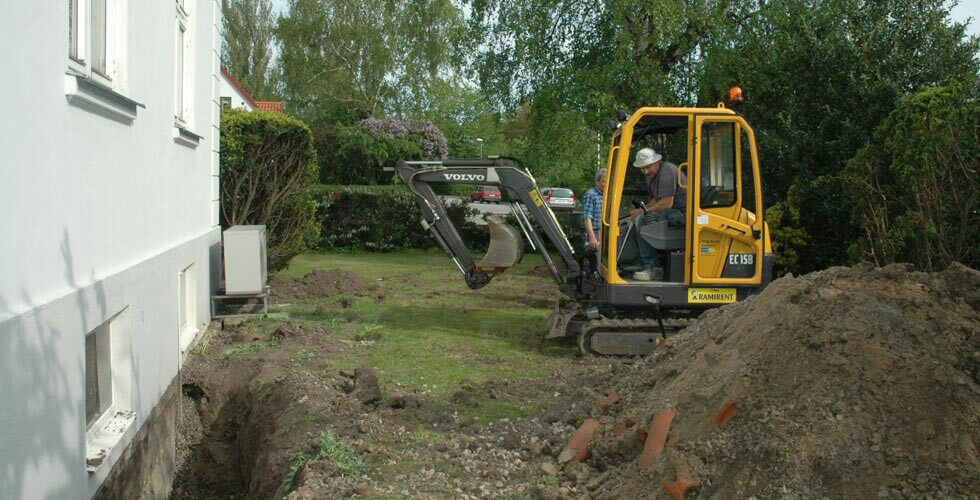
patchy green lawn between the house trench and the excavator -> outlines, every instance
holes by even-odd
[[[377,368],[385,386],[445,397],[464,379],[548,376],[573,355],[573,348],[553,343],[544,353],[538,351],[555,288],[550,277],[526,272],[542,263],[540,256],[528,255],[481,290],[467,288],[441,251],[303,254],[281,274],[300,278],[315,269],[342,269],[375,283],[384,296],[380,302],[348,294],[345,309],[324,307],[337,300],[327,298],[296,304],[288,312],[327,324],[357,344],[325,359],[328,370],[368,364]]]

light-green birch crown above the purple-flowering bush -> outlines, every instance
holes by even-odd
[[[287,98],[314,121],[398,114],[452,73],[451,0],[290,0],[276,28]]]

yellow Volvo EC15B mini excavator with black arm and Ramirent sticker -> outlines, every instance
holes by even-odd
[[[733,89],[730,100],[739,93]],[[562,293],[545,338],[575,336],[583,354],[632,357],[655,349],[687,318],[760,292],[772,280],[773,254],[763,218],[755,134],[741,115],[721,103],[715,108],[643,107],[620,112],[610,128],[598,269],[587,264],[590,255],[573,249],[534,177],[516,158],[401,161],[396,170],[415,194],[422,226],[467,285],[481,288],[520,261],[526,239],[542,254]],[[630,165],[643,147],[663,151],[684,173],[677,176],[687,191],[683,227],[662,221],[638,228],[629,216],[633,207],[645,210],[639,199],[648,197],[645,189],[627,188],[642,186],[642,175]],[[520,230],[488,216],[490,247],[474,262],[433,183],[499,186],[512,200]],[[638,258],[637,238],[659,254],[661,280],[632,279],[626,271]]]

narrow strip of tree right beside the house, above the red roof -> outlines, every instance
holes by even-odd
[[[272,61],[275,18],[270,0],[222,0],[221,64],[257,99],[276,95]]]

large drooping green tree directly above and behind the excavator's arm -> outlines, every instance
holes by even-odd
[[[591,186],[617,109],[694,103],[697,47],[732,3],[473,2],[470,38],[482,45],[470,48],[472,64],[483,91],[510,113],[505,149],[541,182]]]

